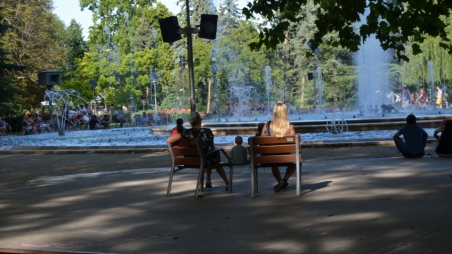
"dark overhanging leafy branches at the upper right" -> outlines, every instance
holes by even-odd
[[[258,14],[274,21],[271,27],[264,27],[259,33],[259,41],[252,43],[253,49],[265,45],[276,48],[285,40],[285,32],[290,22],[301,22],[297,16],[301,8],[310,0],[253,0],[243,8],[247,19]],[[313,48],[320,43],[333,46],[342,45],[351,51],[357,51],[362,40],[371,34],[376,34],[383,49],[394,49],[397,58],[408,60],[405,43],[412,42],[413,54],[421,53],[419,43],[427,36],[441,38],[440,46],[452,53],[452,47],[445,31],[448,17],[452,9],[452,1],[412,1],[412,0],[312,0],[319,4],[321,10],[317,12],[315,21],[317,31],[311,39]],[[366,13],[366,24],[355,31],[354,25]],[[335,40],[325,38],[330,32],[337,32]]]

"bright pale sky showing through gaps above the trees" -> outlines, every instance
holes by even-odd
[[[212,0],[214,2],[219,2],[219,0]],[[249,0],[238,0],[237,5],[241,9],[245,7]],[[54,10],[53,13],[57,14],[58,17],[63,20],[63,22],[68,26],[71,19],[75,19],[77,23],[80,23],[83,27],[83,35],[85,40],[88,39],[89,27],[93,24],[91,11],[85,9],[81,11],[79,0],[53,0]],[[176,14],[180,11],[180,7],[176,5],[177,0],[162,0],[160,1],[168,7],[168,9]]]

